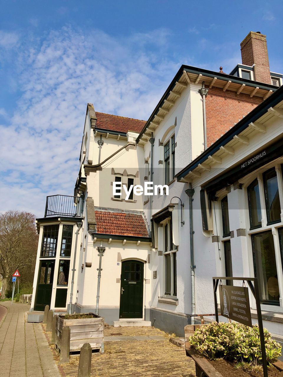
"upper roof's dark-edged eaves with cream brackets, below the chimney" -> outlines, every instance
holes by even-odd
[[[252,81],[252,80],[248,80],[248,79],[245,79],[245,78],[240,78],[240,77],[228,75],[228,74],[225,74],[225,73],[213,72],[211,70],[197,68],[197,67],[192,67],[192,66],[187,66],[187,65],[183,64],[180,67],[180,69],[178,70],[178,72],[175,75],[175,77],[173,78],[173,80],[171,81],[171,83],[169,84],[169,86],[166,89],[165,93],[163,94],[163,96],[161,97],[160,101],[158,102],[157,106],[153,110],[151,116],[149,117],[149,119],[146,122],[145,126],[141,130],[140,134],[138,135],[137,140],[136,140],[137,144],[140,142],[140,140],[141,140],[143,134],[146,132],[146,130],[151,126],[151,123],[154,121],[155,116],[160,117],[157,114],[160,112],[160,110],[163,110],[163,109],[161,109],[161,107],[166,103],[166,100],[168,100],[168,97],[171,94],[174,95],[174,93],[175,93],[174,92],[175,86],[178,85],[178,84],[181,84],[181,85],[184,84],[184,82],[180,83],[179,80],[181,79],[181,77],[183,75],[185,75],[185,72],[188,75],[188,77],[186,77],[185,80],[191,81],[192,84],[196,84],[198,82],[202,82],[205,79],[209,80],[208,83],[207,83],[208,86],[209,85],[215,86],[215,83],[217,83],[217,81],[218,82],[221,81],[224,84],[225,84],[225,82],[226,83],[229,82],[229,84],[232,83],[234,85],[235,84],[238,85],[238,88],[239,88],[238,90],[240,90],[239,93],[242,92],[242,90],[241,90],[242,87],[245,87],[245,89],[247,89],[248,87],[250,87],[251,88],[251,92],[252,91],[257,91],[258,92],[258,90],[260,90],[261,92],[262,91],[265,92],[264,96],[268,96],[269,93],[274,92],[275,90],[278,89],[277,86],[274,86],[274,85],[271,85],[271,84],[263,84],[263,83],[260,83],[258,81]],[[263,96],[263,98],[264,98],[264,96]],[[168,112],[168,109],[165,109],[165,111]]]

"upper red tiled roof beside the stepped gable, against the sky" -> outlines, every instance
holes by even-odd
[[[117,132],[133,131],[140,133],[146,124],[145,120],[138,120],[133,118],[124,118],[124,116],[98,113],[95,111],[97,117],[96,127],[103,130],[111,130]]]

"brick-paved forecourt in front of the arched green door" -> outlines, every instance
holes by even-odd
[[[163,331],[153,327],[106,326],[104,335],[112,339],[105,342],[104,354],[92,354],[92,377],[195,377],[195,363],[186,356],[184,348],[170,343]],[[115,341],[115,337],[122,339]],[[138,340],[140,337],[149,339]],[[72,355],[69,364],[61,365],[66,377],[77,377],[78,361],[79,356]]]

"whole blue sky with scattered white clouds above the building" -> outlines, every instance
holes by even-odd
[[[1,1],[0,211],[72,195],[86,104],[146,120],[181,64],[229,73],[249,31],[283,72],[283,3]]]

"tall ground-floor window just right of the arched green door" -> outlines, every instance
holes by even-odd
[[[173,244],[172,221],[163,223],[164,230],[164,276],[166,296],[177,296],[177,248]]]

